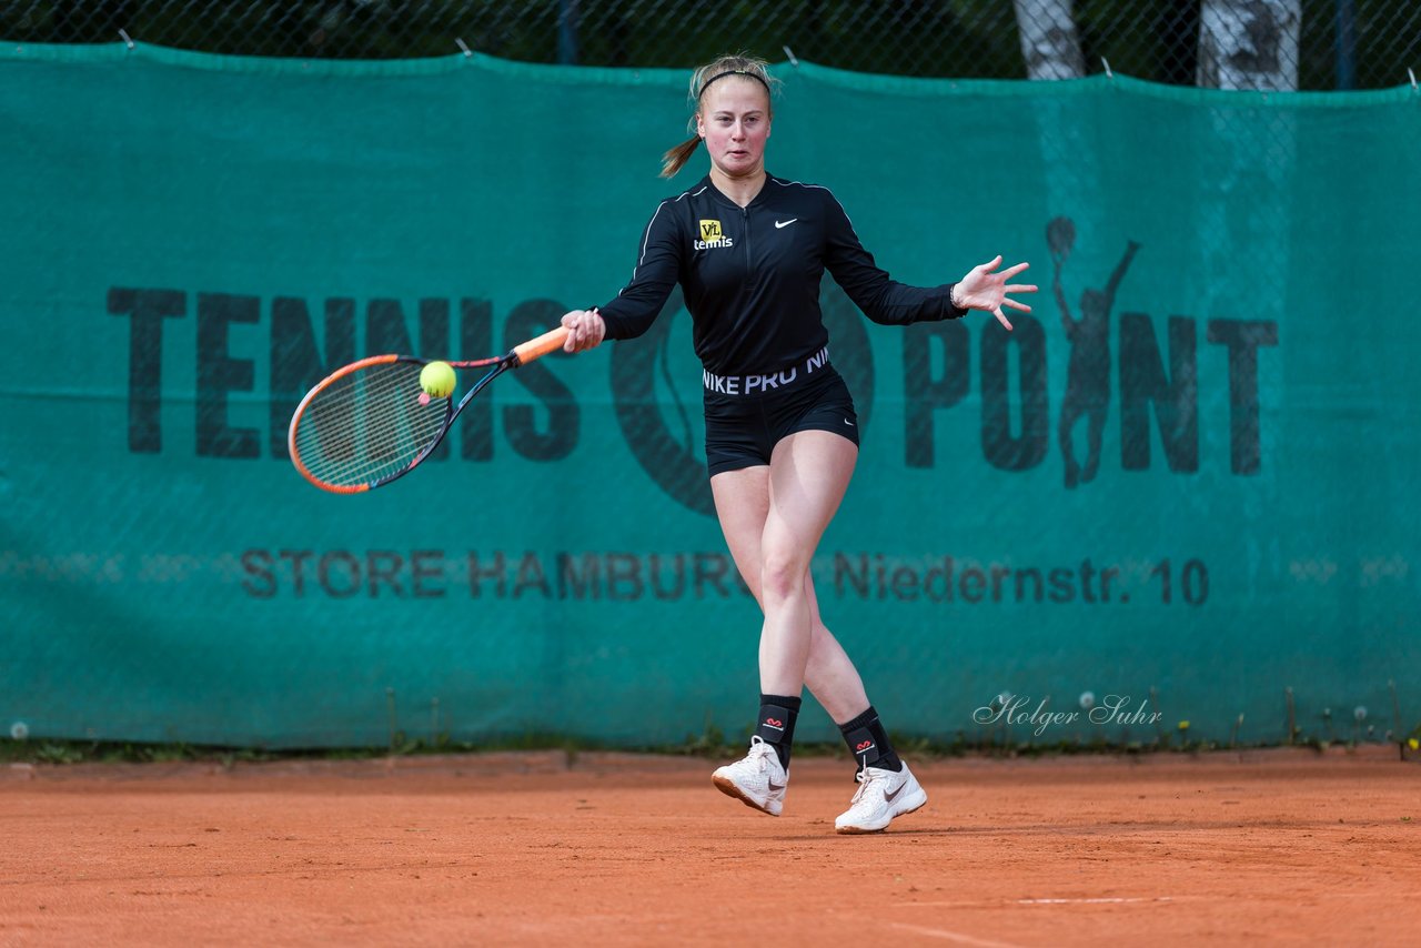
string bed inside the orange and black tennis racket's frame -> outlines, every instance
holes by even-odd
[[[331,381],[306,406],[296,449],[311,475],[334,486],[404,470],[443,429],[449,401],[419,404],[418,362],[382,362]]]

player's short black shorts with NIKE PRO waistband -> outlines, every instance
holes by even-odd
[[[826,365],[799,385],[755,395],[706,389],[706,468],[710,476],[770,463],[780,439],[828,431],[858,443],[858,415],[848,385]]]

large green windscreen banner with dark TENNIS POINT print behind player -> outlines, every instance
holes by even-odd
[[[1383,739],[1421,719],[1421,97],[776,65],[767,169],[894,279],[813,563],[890,729]],[[0,50],[0,725],[264,746],[652,746],[757,708],[679,291],[497,379],[360,496],[287,424],[378,352],[477,358],[630,279],[686,75]],[[1188,722],[1187,728],[1182,725]],[[1182,735],[1181,735],[1182,731]],[[801,738],[837,738],[806,713]]]

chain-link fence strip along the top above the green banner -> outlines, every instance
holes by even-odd
[[[1181,85],[1400,85],[1414,0],[3,0],[13,43],[212,53],[686,67],[728,50],[864,72]]]

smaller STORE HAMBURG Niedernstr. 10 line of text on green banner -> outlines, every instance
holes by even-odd
[[[720,551],[510,551],[252,549],[239,557],[253,598],[708,600],[750,598]],[[935,605],[1202,605],[1201,560],[1133,563],[1083,557],[1060,566],[1003,566],[941,556],[925,563],[884,553],[834,551],[814,561],[816,584],[840,600]]]

